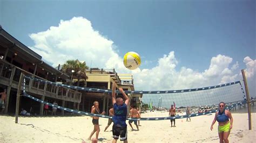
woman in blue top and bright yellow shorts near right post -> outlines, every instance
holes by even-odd
[[[230,135],[230,131],[233,125],[233,117],[231,112],[225,110],[225,103],[219,103],[219,111],[215,113],[215,117],[212,121],[211,131],[213,130],[213,125],[215,121],[219,122],[218,132],[219,132],[219,139],[220,142],[228,142],[228,135]]]

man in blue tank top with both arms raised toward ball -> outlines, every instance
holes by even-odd
[[[112,86],[112,103],[114,108],[114,116],[112,117],[113,120],[113,141],[117,142],[119,136],[120,141],[127,142],[127,125],[125,123],[126,116],[127,116],[127,105],[129,104],[129,97],[125,94],[123,88],[119,88],[119,91],[122,93],[124,99],[122,97],[116,98],[116,84],[113,83]]]

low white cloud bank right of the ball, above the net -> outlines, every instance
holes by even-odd
[[[229,68],[231,63],[232,58],[217,55],[211,59],[210,67],[204,72],[186,67],[177,70],[178,61],[174,52],[170,52],[169,55],[164,55],[158,60],[158,66],[134,73],[134,80],[143,90],[184,89],[223,84],[238,80],[238,75],[233,74],[235,68]],[[236,66],[238,68],[238,65]]]

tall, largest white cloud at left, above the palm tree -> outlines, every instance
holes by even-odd
[[[121,58],[114,51],[113,41],[99,34],[91,22],[83,17],[60,20],[57,27],[30,34],[30,37],[35,42],[30,48],[53,63],[53,66],[78,59],[86,61],[87,66],[92,62],[92,67],[123,67]]]

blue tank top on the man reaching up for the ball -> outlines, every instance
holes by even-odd
[[[113,123],[116,126],[124,127],[127,126],[126,121],[126,115],[127,115],[127,105],[124,103],[123,105],[117,105],[117,103],[114,103],[114,116],[112,117]]]

